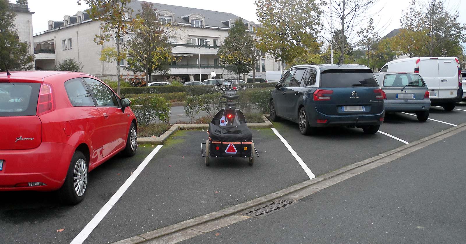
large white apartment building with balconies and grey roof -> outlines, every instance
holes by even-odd
[[[141,10],[141,3],[142,1],[137,0],[130,2],[129,7],[134,10],[134,14]],[[238,16],[158,3],[153,3],[153,7],[157,9],[159,20],[176,26],[175,37],[170,42],[173,46],[172,54],[180,60],[171,64],[169,75],[179,76],[185,81],[199,81],[199,72],[201,80],[211,78],[212,71],[222,74],[223,66],[219,62],[217,53]],[[253,21],[247,20],[244,20],[244,25],[251,31],[257,27]],[[104,48],[94,42],[94,35],[99,32],[100,22],[91,20],[85,11],[78,11],[75,15],[65,15],[62,21],[49,20],[47,31],[34,34],[36,68],[53,69],[58,62],[74,58],[82,63],[83,72],[100,78],[116,79],[117,64],[99,60]],[[123,41],[127,38],[130,36],[123,37]],[[201,46],[207,39],[210,42]],[[116,46],[116,40],[105,45]],[[119,65],[124,68],[127,63],[122,61]],[[257,64],[256,78],[265,78],[266,70],[279,70],[279,68],[280,63],[273,58],[262,57]],[[121,69],[121,74],[128,78],[134,75],[124,69]],[[250,75],[252,77],[252,74]],[[165,78],[167,77],[164,75],[153,74],[152,80]]]

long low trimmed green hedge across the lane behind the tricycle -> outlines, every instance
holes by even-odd
[[[250,83],[249,88],[273,88],[274,83]],[[121,94],[163,94],[185,92],[187,95],[202,95],[216,93],[214,85],[207,86],[155,86],[155,87],[127,87],[120,89]]]

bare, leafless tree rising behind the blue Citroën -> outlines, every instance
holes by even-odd
[[[357,36],[357,32],[361,29],[359,24],[367,20],[369,17],[367,11],[377,2],[378,0],[327,0],[327,8],[322,8],[323,14],[331,21],[329,27],[324,26],[326,33],[330,33],[331,36],[322,36],[322,38],[339,51],[339,64],[344,63],[344,56],[352,47],[360,45],[362,38]],[[338,25],[336,28],[333,27],[333,19]],[[339,38],[333,38],[334,36]]]

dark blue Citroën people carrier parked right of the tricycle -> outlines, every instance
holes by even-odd
[[[363,65],[293,66],[275,85],[270,118],[298,123],[301,134],[348,126],[374,134],[384,122],[384,91]]]

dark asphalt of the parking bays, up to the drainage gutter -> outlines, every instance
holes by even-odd
[[[302,136],[295,123],[281,121],[274,126],[319,176],[466,122],[466,104],[458,103],[456,108],[447,112],[432,107],[432,120],[427,122],[409,114],[389,114],[380,128],[384,134],[375,135],[356,128],[330,128]],[[246,159],[214,159],[206,167],[200,156],[200,143],[206,138],[206,131],[178,131],[84,243],[116,242],[309,179],[271,129],[253,130],[260,157],[252,167]],[[141,145],[136,156],[116,156],[90,172],[87,197],[76,206],[61,206],[53,192],[0,192],[0,243],[70,243],[153,149]]]

